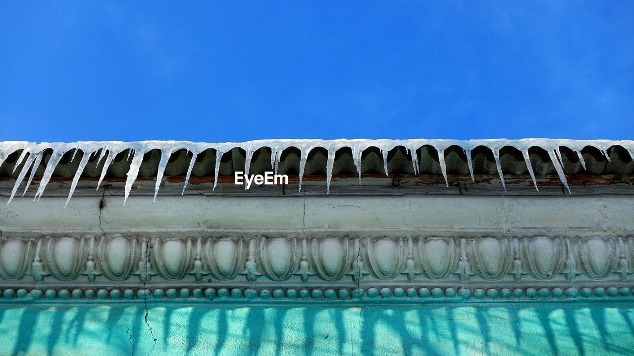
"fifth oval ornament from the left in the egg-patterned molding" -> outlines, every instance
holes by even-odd
[[[219,281],[231,281],[242,268],[244,255],[242,239],[213,239],[205,244],[205,262],[212,277]]]

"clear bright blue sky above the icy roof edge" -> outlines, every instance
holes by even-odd
[[[634,139],[634,1],[182,4],[0,1],[0,140]]]

